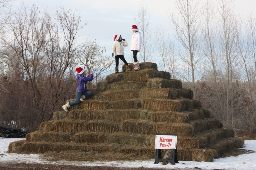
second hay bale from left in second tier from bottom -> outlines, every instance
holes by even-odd
[[[103,132],[79,132],[72,137],[76,143],[104,143],[107,141],[108,133]]]

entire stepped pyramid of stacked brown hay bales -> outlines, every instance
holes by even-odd
[[[111,74],[93,89],[93,96],[54,113],[54,120],[26,140],[12,142],[9,152],[91,152],[155,157],[155,134],[178,134],[179,161],[212,161],[241,148],[243,138],[223,129],[212,110],[193,100],[191,89],[155,63],[141,63],[140,71]],[[68,100],[72,101],[72,100]]]

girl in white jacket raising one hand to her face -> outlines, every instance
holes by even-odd
[[[122,39],[121,35],[115,35],[113,46],[112,46],[112,57],[115,54],[115,73],[118,73],[119,58],[126,65],[127,71],[132,71],[132,68],[124,59],[123,47],[127,47],[128,43],[125,39]]]

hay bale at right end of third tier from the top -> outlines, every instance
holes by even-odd
[[[147,82],[148,88],[182,88],[180,80],[167,80],[163,78],[149,78]]]

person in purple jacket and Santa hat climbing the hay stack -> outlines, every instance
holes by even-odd
[[[72,102],[68,102],[65,105],[62,106],[62,108],[67,112],[68,108],[70,108],[72,105],[76,105],[80,103],[80,101],[84,101],[86,97],[89,97],[92,95],[91,91],[87,91],[86,83],[88,81],[92,81],[93,74],[92,70],[90,70],[90,75],[88,74],[87,77],[85,77],[85,69],[82,69],[81,67],[76,68],[77,78],[78,78],[78,87],[76,90],[76,100]]]

